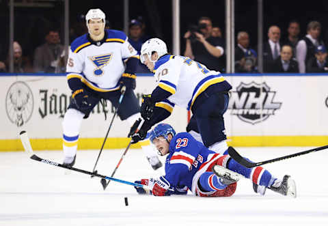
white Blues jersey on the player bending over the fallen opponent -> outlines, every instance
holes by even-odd
[[[191,109],[197,97],[208,87],[211,87],[212,93],[231,89],[220,72],[208,70],[202,63],[182,56],[165,55],[161,57],[155,63],[154,77],[158,84],[157,87],[170,94],[167,100],[172,102],[172,108],[174,104],[177,104],[185,109]],[[161,92],[159,91],[154,90],[152,93],[154,99],[163,103],[163,98],[161,100],[160,96]]]

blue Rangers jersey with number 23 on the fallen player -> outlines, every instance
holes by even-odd
[[[194,190],[192,189],[194,175],[203,163],[213,160],[217,155],[196,141],[188,132],[180,132],[169,143],[164,178],[176,190],[185,186],[189,190]]]

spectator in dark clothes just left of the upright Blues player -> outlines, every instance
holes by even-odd
[[[34,72],[55,72],[63,50],[64,46],[60,44],[59,31],[51,29],[46,34],[46,43],[38,46],[34,53]]]

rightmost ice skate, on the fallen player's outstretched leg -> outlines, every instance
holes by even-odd
[[[290,175],[284,175],[282,180],[275,180],[270,189],[276,193],[296,198],[296,184],[295,181],[290,178]]]

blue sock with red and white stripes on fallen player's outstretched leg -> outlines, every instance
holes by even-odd
[[[233,159],[229,160],[228,169],[244,175],[255,184],[263,185],[266,187],[271,186],[275,180],[275,178],[272,177],[271,173],[267,171],[267,169],[263,169],[262,167],[246,168]]]

